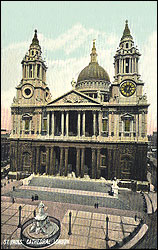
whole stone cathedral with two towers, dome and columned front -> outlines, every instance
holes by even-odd
[[[114,56],[113,82],[93,41],[90,63],[72,80],[72,90],[52,100],[41,53],[35,30],[11,106],[11,171],[146,180],[149,104],[128,22]]]

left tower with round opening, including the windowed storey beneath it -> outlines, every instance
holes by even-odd
[[[16,87],[16,97],[11,106],[13,138],[34,138],[41,133],[43,110],[51,101],[46,84],[47,66],[41,54],[35,30],[29,51],[21,62],[22,80]]]

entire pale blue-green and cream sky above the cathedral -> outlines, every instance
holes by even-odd
[[[1,1],[1,128],[10,129],[10,106],[22,79],[21,61],[37,29],[52,98],[90,62],[96,39],[98,63],[114,81],[114,55],[128,20],[141,53],[139,73],[149,106],[148,134],[157,131],[157,1]]]

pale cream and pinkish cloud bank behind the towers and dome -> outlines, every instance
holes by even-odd
[[[71,29],[55,39],[45,37],[38,33],[43,57],[46,57],[48,65],[47,84],[51,90],[52,97],[56,98],[71,90],[71,80],[77,77],[81,70],[90,62],[92,40],[96,39],[98,62],[110,76],[113,82],[114,55],[119,46],[120,37],[114,33],[86,29],[81,24],[74,25]],[[21,61],[29,49],[32,38],[21,43],[11,44],[2,49],[2,106],[9,108],[13,97],[16,95],[15,87],[22,78]],[[148,41],[141,48],[140,58],[141,78],[145,82],[144,91],[147,93],[149,107],[148,132],[156,129],[157,124],[157,33],[153,32]],[[139,46],[138,46],[139,47]],[[61,52],[58,57],[58,52]],[[58,59],[59,58],[59,59]],[[155,90],[155,91],[153,91]],[[155,110],[156,112],[153,112]],[[152,125],[151,125],[152,124]]]

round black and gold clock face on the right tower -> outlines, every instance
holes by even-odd
[[[132,96],[135,91],[136,91],[136,86],[131,81],[123,82],[120,87],[121,94],[126,97]]]

